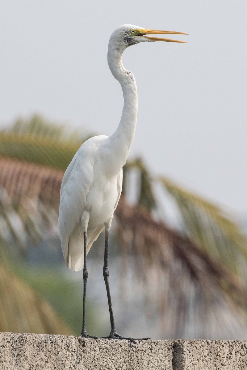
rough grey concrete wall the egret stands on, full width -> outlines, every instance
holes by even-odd
[[[0,369],[247,370],[247,341],[79,339],[0,333]]]

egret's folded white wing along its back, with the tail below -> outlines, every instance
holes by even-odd
[[[83,268],[83,214],[87,194],[94,181],[94,161],[100,144],[106,136],[93,137],[84,142],[65,171],[60,191],[59,231],[63,256],[67,266],[74,271]],[[87,252],[103,230],[87,232]]]

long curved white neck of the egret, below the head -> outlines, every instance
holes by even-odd
[[[124,97],[123,113],[116,131],[109,137],[112,152],[110,165],[116,173],[126,162],[134,139],[137,122],[137,87],[133,73],[127,71],[122,63],[123,51],[114,49],[109,44],[107,60],[111,73],[121,84]]]

